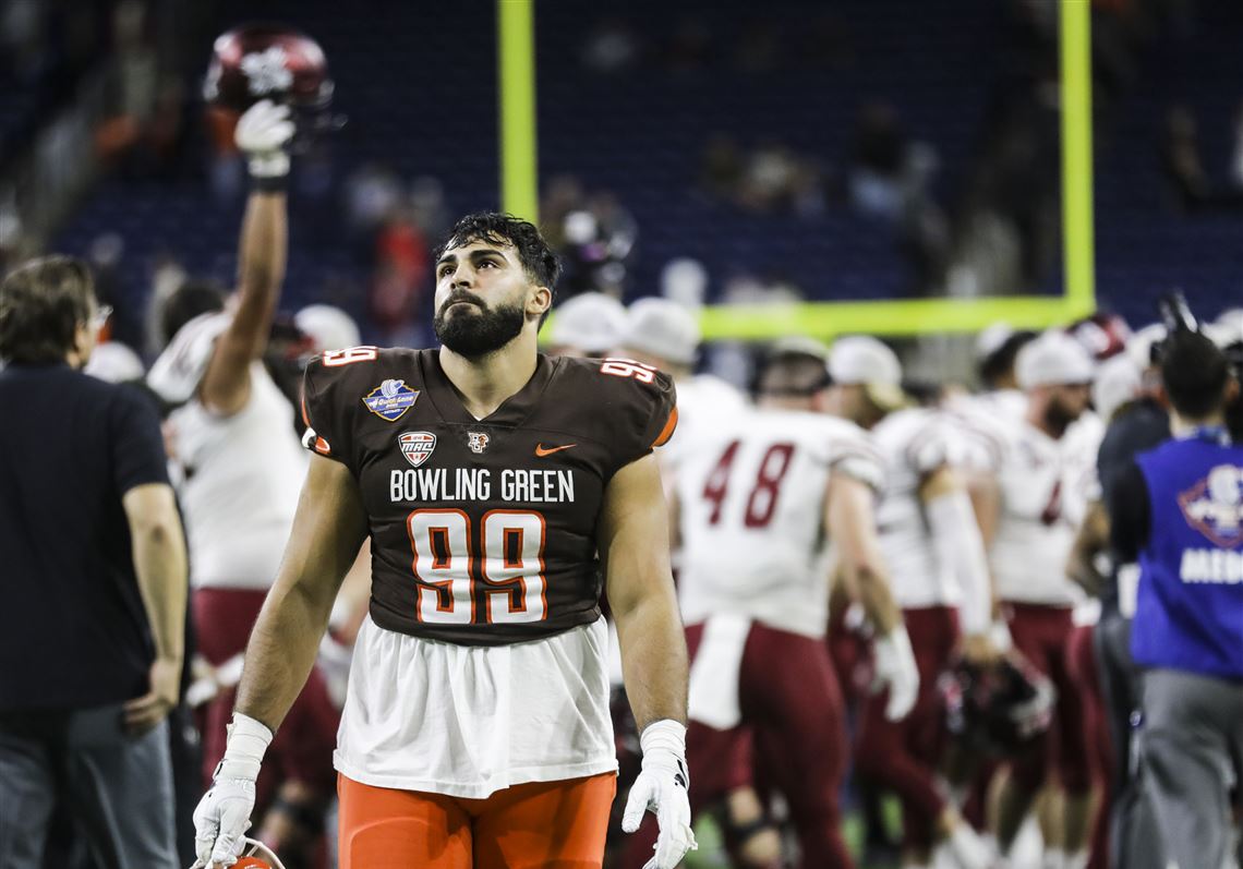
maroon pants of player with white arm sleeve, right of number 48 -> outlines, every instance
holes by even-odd
[[[859,720],[855,770],[901,799],[904,843],[929,848],[933,823],[945,809],[933,778],[945,748],[945,715],[936,681],[958,643],[958,610],[911,608],[902,610],[902,619],[920,671],[920,692],[901,721],[885,717],[889,691],[868,699]]]

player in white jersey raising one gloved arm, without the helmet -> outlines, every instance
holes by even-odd
[[[148,375],[152,389],[175,407],[167,426],[184,480],[193,613],[199,651],[215,668],[246,644],[276,577],[307,467],[293,408],[261,362],[285,277],[292,136],[288,107],[270,101],[239,119],[235,138],[252,193],[236,292],[226,300],[214,287],[189,283],[173,293],[160,311],[169,344]],[[205,781],[224,756],[232,702],[232,690],[224,690],[208,705]],[[260,835],[286,854],[317,835],[303,819],[322,812],[336,783],[338,714],[322,679],[312,678],[295,715],[302,726],[287,732],[301,732],[273,746],[280,762],[259,782],[266,817],[256,814]]]

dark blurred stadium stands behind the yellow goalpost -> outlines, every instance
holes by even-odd
[[[132,343],[154,264],[231,277],[240,178],[231,195],[213,183],[200,85],[213,37],[241,21],[288,22],[319,40],[337,82],[333,109],[348,117],[297,168],[286,307],[331,301],[369,318],[379,257],[367,231],[347,229],[344,204],[364,167],[392,172],[403,193],[416,179],[425,195],[439,186],[440,220],[497,205],[490,2],[153,1],[129,44],[113,19],[131,4],[10,4],[24,5],[41,10],[45,51],[35,70],[9,52],[0,147],[16,175],[10,201],[35,236],[26,244],[113,252],[118,337]],[[73,56],[65,45],[83,16],[93,16],[94,45]],[[577,184],[589,210],[622,210],[623,241],[633,232],[634,244],[623,244],[624,275],[607,280],[626,298],[659,291],[661,267],[682,256],[706,267],[710,301],[763,298],[774,286],[808,300],[1058,293],[1055,17],[1052,0],[541,4],[543,193]],[[1216,315],[1243,274],[1243,188],[1231,174],[1243,7],[1096,2],[1094,36],[1099,301],[1135,326],[1152,318],[1158,293],[1181,286]],[[888,107],[899,132],[859,145],[869,107]],[[1173,143],[1177,107],[1198,138]],[[75,111],[76,124],[41,140]],[[132,144],[118,118],[137,121]],[[152,144],[157,126],[162,136],[175,127],[172,144]],[[66,150],[66,137],[82,136],[91,147]],[[936,165],[915,229],[904,224],[910,215],[868,214],[850,193],[860,150],[885,160],[911,143]],[[52,177],[31,169],[40,152],[57,153]],[[1202,178],[1186,168],[1188,154]],[[783,186],[791,167],[796,179]],[[738,184],[740,173],[766,170],[778,173],[776,193],[763,179],[759,194],[722,193],[731,172]],[[29,218],[30,203],[51,218]],[[559,211],[546,205],[547,221]],[[96,244],[109,234],[111,249]],[[4,239],[16,244],[11,231]],[[972,257],[988,264],[965,286],[956,266]],[[568,292],[599,280],[590,262],[579,271]],[[421,274],[409,282],[415,296],[428,286]]]

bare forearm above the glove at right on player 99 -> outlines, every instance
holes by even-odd
[[[614,610],[613,617],[626,696],[640,732],[661,719],[686,724],[686,638],[672,587]]]

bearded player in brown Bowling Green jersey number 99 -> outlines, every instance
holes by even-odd
[[[538,354],[557,272],[531,224],[464,218],[436,259],[439,351],[311,363],[314,455],[195,813],[200,862],[237,853],[264,751],[365,537],[370,614],[334,755],[343,868],[600,865],[617,768],[602,588],[643,729],[624,827],[656,814],[651,868],[695,847],[651,455],[676,424],[674,389],[639,363]]]

